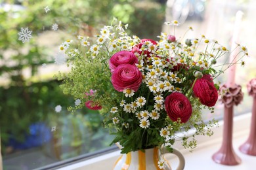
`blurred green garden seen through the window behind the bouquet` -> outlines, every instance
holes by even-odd
[[[128,33],[156,39],[165,20],[166,1],[7,0],[0,3],[0,131],[4,169],[33,169],[106,148],[112,141],[93,110],[66,111],[74,99],[64,95],[53,75],[58,46],[77,35],[92,36],[115,16]],[[45,12],[45,7],[50,11]],[[52,29],[58,24],[58,30]],[[32,39],[18,41],[21,27]],[[62,111],[55,112],[56,105]],[[20,158],[36,152],[32,163]],[[45,158],[43,158],[45,156]],[[16,158],[16,159],[15,159]],[[29,157],[27,158],[28,161]]]

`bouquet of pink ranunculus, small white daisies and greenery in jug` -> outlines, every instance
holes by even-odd
[[[175,30],[179,22],[165,24]],[[219,86],[213,80],[234,64],[215,69],[228,50],[203,35],[179,40],[161,33],[158,41],[130,37],[127,26],[115,19],[92,39],[79,35],[76,48],[70,40],[60,45],[58,61],[67,61],[71,71],[59,73],[58,80],[77,101],[68,109],[100,110],[104,126],[116,135],[113,143],[123,146],[121,153],[161,145],[171,150],[177,140],[193,149],[195,136],[213,135],[217,124],[203,122],[202,109],[214,111]],[[238,48],[237,63],[243,63],[247,49]],[[190,129],[194,135],[177,135]]]

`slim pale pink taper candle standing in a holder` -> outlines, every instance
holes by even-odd
[[[232,44],[231,44],[231,53],[230,53],[229,63],[236,63],[236,61],[237,61],[236,55],[238,54],[238,48],[236,48],[236,46],[237,46],[236,43],[238,42],[238,38],[239,38],[240,25],[241,25],[243,14],[244,13],[241,10],[238,10],[238,12],[236,12],[236,20],[235,20],[234,31],[233,31],[233,36],[232,36]],[[235,48],[236,48],[236,50],[235,50]],[[228,87],[234,86],[235,78],[236,78],[236,64],[232,65],[229,68],[228,82],[227,82]]]

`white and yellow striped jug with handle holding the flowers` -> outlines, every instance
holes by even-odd
[[[167,152],[165,148],[163,148],[164,152]],[[179,158],[179,166],[177,170],[184,169],[184,156],[182,156],[179,150],[173,148],[173,152],[171,154],[175,154]],[[160,150],[158,148],[148,148],[145,152],[141,150],[135,152],[129,152],[127,154],[121,155],[114,165],[114,170],[158,170],[158,161],[160,160]],[[165,160],[165,166],[163,169],[170,170],[171,166],[168,161]]]

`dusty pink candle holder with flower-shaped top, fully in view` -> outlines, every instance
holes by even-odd
[[[224,103],[223,143],[219,151],[213,154],[212,159],[222,165],[238,165],[241,159],[234,152],[232,144],[233,108],[234,105],[241,103],[244,94],[241,86],[237,84],[232,87],[224,85],[220,88],[220,92],[223,93],[221,101]]]

